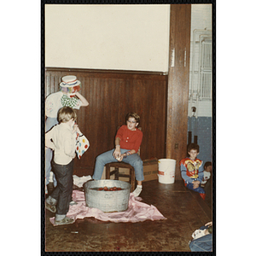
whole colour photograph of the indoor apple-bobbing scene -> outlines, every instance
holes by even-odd
[[[215,1],[41,11],[42,252],[215,254]]]

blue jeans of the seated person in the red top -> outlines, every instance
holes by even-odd
[[[111,162],[118,162],[119,160],[116,160],[113,157],[113,151],[109,150],[103,154],[100,154],[96,157],[96,165],[94,169],[94,174],[92,176],[93,179],[99,180],[102,178],[102,173],[104,170],[104,166]],[[129,149],[123,149],[121,148],[121,154],[124,154],[126,151],[130,151]],[[137,181],[143,181],[143,160],[141,160],[140,156],[138,154],[131,154],[124,158],[122,160],[123,162],[130,164],[132,167],[134,167],[135,171],[135,177]]]

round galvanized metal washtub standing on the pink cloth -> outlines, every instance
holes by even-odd
[[[96,190],[103,187],[122,190]],[[86,207],[97,208],[102,212],[124,212],[128,208],[131,184],[120,180],[102,179],[84,183]]]

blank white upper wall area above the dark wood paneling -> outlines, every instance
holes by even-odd
[[[169,4],[45,6],[45,66],[168,71]]]

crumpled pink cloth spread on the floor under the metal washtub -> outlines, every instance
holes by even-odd
[[[140,197],[134,197],[130,194],[130,200],[128,204],[128,209],[125,212],[102,212],[96,208],[86,207],[84,192],[79,190],[73,190],[73,201],[77,202],[77,205],[69,207],[67,212],[68,218],[88,218],[94,217],[102,221],[111,221],[111,222],[140,222],[147,219],[151,220],[160,220],[166,219],[156,207],[149,206],[141,202]],[[51,224],[55,225],[55,218],[49,218]]]

